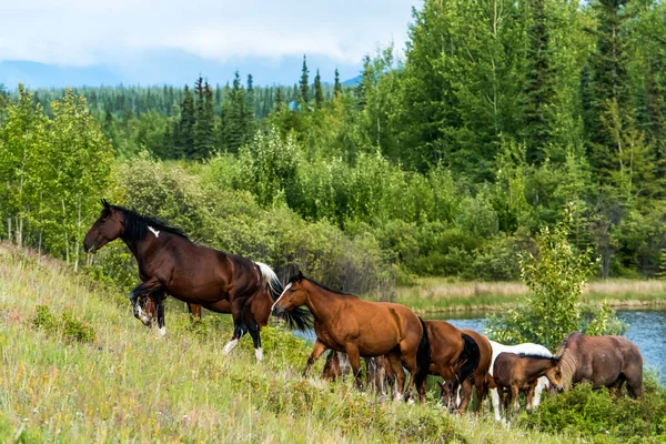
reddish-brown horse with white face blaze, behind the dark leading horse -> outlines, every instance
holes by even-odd
[[[273,304],[273,315],[280,316],[301,305],[307,306],[314,317],[316,342],[303,375],[326,351],[344,352],[356,379],[361,381],[361,356],[386,355],[397,380],[397,398],[418,386],[427,376],[430,342],[421,317],[401,304],[364,301],[353,294],[331,290],[302,272],[293,275]],[[405,390],[405,373],[410,382]],[[422,397],[422,402],[425,398]]]

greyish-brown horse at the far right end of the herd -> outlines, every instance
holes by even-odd
[[[643,397],[643,356],[632,341],[622,336],[569,334],[557,349],[566,386],[588,382],[619,395],[627,383],[628,395]]]

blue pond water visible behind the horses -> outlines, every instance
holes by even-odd
[[[659,372],[662,382],[666,383],[666,310],[618,310],[617,315],[629,324],[626,337],[638,345],[645,366]],[[470,329],[483,333],[483,313],[424,317],[443,319],[458,329]],[[299,333],[299,335],[314,341],[314,332]]]

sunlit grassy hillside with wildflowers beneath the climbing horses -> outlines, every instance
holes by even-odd
[[[40,304],[91,324],[95,342],[34,326]],[[0,243],[0,441],[563,442],[303,380],[307,349],[280,327],[264,330],[264,363],[249,339],[222,356],[229,322],[209,317],[193,327],[170,310],[158,339],[124,297]]]

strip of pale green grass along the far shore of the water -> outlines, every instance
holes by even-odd
[[[395,302],[424,312],[494,311],[525,304],[527,287],[517,282],[458,282],[420,278],[398,287]],[[665,281],[608,280],[589,283],[584,301],[606,301],[614,307],[666,306]]]

